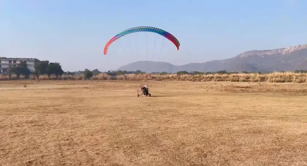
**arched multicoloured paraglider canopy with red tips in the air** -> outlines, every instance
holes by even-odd
[[[166,32],[165,30],[161,30],[159,28],[155,28],[155,27],[150,27],[150,26],[138,26],[138,27],[134,27],[134,28],[129,28],[127,30],[122,31],[121,33],[115,35],[113,38],[111,38],[106,46],[104,47],[103,50],[103,54],[107,54],[108,48],[111,45],[111,43],[113,43],[115,40],[127,35],[127,34],[131,34],[134,32],[154,32],[157,34],[160,34],[162,36],[164,36],[165,38],[169,39],[170,41],[172,41],[174,43],[174,45],[176,45],[177,50],[179,49],[180,43],[177,40],[177,38],[175,38],[172,34]]]

